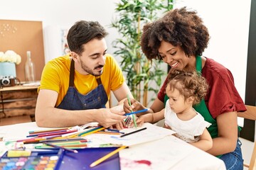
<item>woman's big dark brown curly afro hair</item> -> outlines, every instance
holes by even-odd
[[[162,18],[147,23],[143,28],[142,52],[148,60],[161,60],[159,47],[161,41],[181,46],[187,57],[202,55],[208,45],[210,35],[196,11],[186,7],[168,11]]]

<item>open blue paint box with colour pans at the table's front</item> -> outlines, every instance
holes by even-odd
[[[114,152],[111,157],[107,157],[104,162],[91,168],[90,164],[98,159],[113,153],[118,147],[100,147],[79,149],[78,153],[69,152],[64,149],[42,149],[41,151],[28,151],[24,154],[14,154],[14,157],[8,157],[6,152],[0,159],[0,169],[53,169],[53,170],[70,170],[70,169],[112,169],[119,170],[119,153]],[[25,155],[26,153],[26,155]],[[18,157],[19,156],[19,157]]]

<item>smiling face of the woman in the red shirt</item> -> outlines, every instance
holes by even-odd
[[[185,52],[180,46],[175,47],[171,43],[161,41],[159,47],[159,55],[166,64],[171,66],[171,69],[184,69],[190,67],[191,58],[185,55]],[[193,64],[191,64],[193,65]]]

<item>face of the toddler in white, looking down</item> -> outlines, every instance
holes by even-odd
[[[175,113],[183,113],[183,111],[192,106],[191,102],[189,102],[190,98],[185,100],[184,96],[177,89],[171,89],[169,85],[166,87],[166,95],[169,96],[170,108]]]

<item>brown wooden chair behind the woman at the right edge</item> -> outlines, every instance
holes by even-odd
[[[247,118],[250,120],[256,120],[256,106],[246,105],[247,111],[238,112],[238,117]],[[256,169],[256,143],[254,142],[254,147],[252,151],[252,157],[250,159],[250,164],[244,164],[249,170]]]

